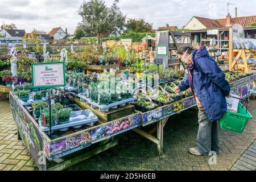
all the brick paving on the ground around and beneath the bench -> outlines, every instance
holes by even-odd
[[[219,130],[222,149],[217,156],[217,165],[209,164],[210,156],[193,156],[188,153],[188,147],[196,144],[198,130],[197,114],[190,109],[171,117],[164,127],[163,156],[157,155],[154,143],[130,131],[119,136],[118,146],[68,170],[253,170],[253,152],[256,147],[255,106],[256,101],[250,101],[248,107],[254,119],[249,121],[242,134]],[[37,169],[22,141],[17,139],[9,102],[0,102],[0,108],[0,170]],[[150,130],[152,126],[144,130]]]

